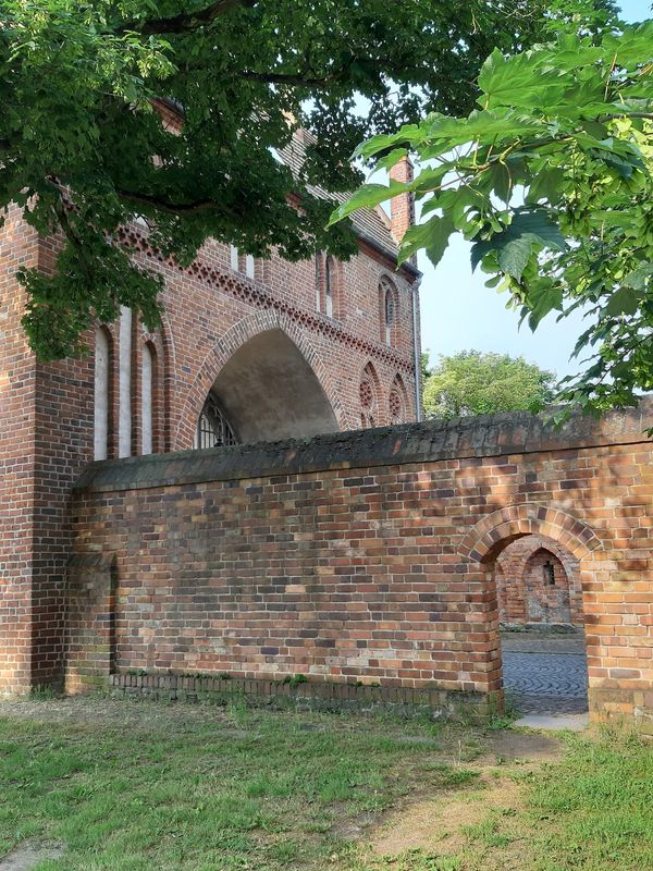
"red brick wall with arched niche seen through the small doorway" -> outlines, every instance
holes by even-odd
[[[544,575],[553,566],[554,584]],[[578,561],[544,536],[517,539],[496,561],[498,613],[502,623],[583,623]]]

